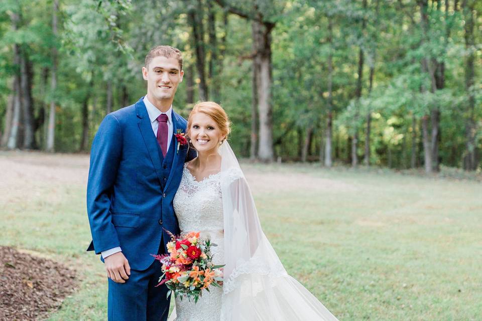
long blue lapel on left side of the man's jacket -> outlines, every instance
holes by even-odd
[[[144,97],[143,97],[144,98]],[[159,147],[158,142],[156,140],[156,136],[152,131],[151,120],[149,119],[149,114],[147,113],[146,106],[141,98],[136,103],[136,112],[138,119],[139,130],[141,130],[142,138],[144,139],[144,143],[146,144],[146,148],[149,151],[149,155],[151,156],[152,164],[154,165],[154,170],[156,171],[157,178],[159,183],[162,186],[162,178],[161,178],[161,158],[159,156]]]

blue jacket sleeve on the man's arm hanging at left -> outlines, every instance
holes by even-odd
[[[121,155],[121,125],[115,116],[108,114],[92,142],[87,182],[87,215],[95,254],[121,246],[110,215],[111,194]]]

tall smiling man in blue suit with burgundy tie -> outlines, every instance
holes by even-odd
[[[175,134],[186,120],[172,109],[182,82],[178,49],[157,46],[146,56],[142,75],[147,95],[103,119],[92,142],[87,212],[92,242],[108,277],[108,320],[166,320],[165,285],[155,287],[161,266],[151,254],[166,253],[179,226],[173,198],[184,162],[195,157]]]

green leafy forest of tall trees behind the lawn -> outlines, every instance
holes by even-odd
[[[482,2],[2,0],[0,143],[88,151],[179,48],[174,108],[221,103],[244,157],[425,172],[481,168]]]

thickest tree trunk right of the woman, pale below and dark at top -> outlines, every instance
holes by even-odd
[[[271,31],[274,25],[260,23],[257,21],[256,30],[258,36],[253,39],[255,44],[255,55],[259,59],[260,69],[258,77],[258,112],[259,112],[259,149],[258,156],[261,161],[272,162],[273,152],[273,119],[271,106]]]

